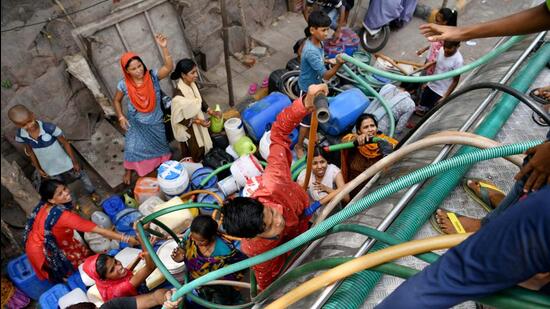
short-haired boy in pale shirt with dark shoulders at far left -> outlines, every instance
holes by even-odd
[[[21,104],[10,108],[8,117],[18,128],[15,141],[24,144],[25,154],[30,157],[41,178],[64,183],[80,179],[92,201],[99,202],[99,195],[90,177],[80,167],[59,127],[36,120],[34,114]]]

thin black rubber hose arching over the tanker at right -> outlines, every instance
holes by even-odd
[[[428,121],[428,119],[432,115],[437,113],[437,111],[439,111],[439,109],[442,108],[443,106],[447,105],[447,103],[451,102],[452,100],[458,98],[459,96],[461,96],[463,94],[466,94],[466,93],[469,93],[471,91],[478,90],[478,89],[493,89],[493,90],[499,90],[499,91],[505,92],[505,93],[515,97],[516,99],[518,99],[520,102],[524,103],[525,105],[527,105],[537,115],[541,116],[542,119],[544,119],[544,121],[546,121],[547,124],[550,125],[550,115],[548,115],[548,113],[546,113],[537,103],[535,103],[533,100],[531,100],[525,94],[521,93],[520,91],[518,91],[515,88],[510,87],[508,85],[504,85],[504,84],[500,84],[500,83],[494,83],[494,82],[482,82],[482,83],[468,85],[464,88],[460,88],[459,90],[453,92],[450,96],[445,98],[443,101],[441,101],[439,104],[434,106],[434,108],[432,108],[420,120],[420,122],[418,122],[418,124],[416,125],[416,128],[414,130],[409,131],[407,133],[407,135],[405,135],[405,137],[403,137],[402,142],[408,140],[414,134],[414,132],[416,132],[416,130],[422,126],[422,124],[424,122]],[[396,149],[400,148],[400,146],[403,144],[402,142],[400,142],[397,145]]]

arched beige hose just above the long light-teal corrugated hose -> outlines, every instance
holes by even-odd
[[[319,224],[319,222],[323,221],[340,203],[342,198],[349,194],[351,191],[353,191],[357,186],[365,182],[367,179],[374,176],[376,173],[380,172],[387,166],[390,166],[394,164],[395,162],[398,162],[406,155],[427,148],[435,145],[445,145],[445,144],[460,144],[460,145],[470,145],[477,148],[488,148],[488,147],[495,147],[501,145],[498,142],[495,142],[491,139],[488,139],[486,137],[467,133],[467,132],[456,132],[456,131],[443,131],[439,132],[430,136],[427,136],[424,139],[421,139],[417,142],[414,142],[412,144],[406,145],[402,148],[397,149],[396,151],[392,152],[390,155],[382,158],[380,161],[376,162],[374,165],[363,171],[361,174],[359,174],[357,177],[355,177],[353,180],[349,181],[344,185],[344,187],[341,189],[341,191],[332,198],[329,204],[327,204],[325,207],[323,207],[319,213],[319,216],[315,219],[314,225]],[[514,163],[517,166],[521,166],[523,162],[523,158],[520,156],[510,156],[506,158],[508,161]]]

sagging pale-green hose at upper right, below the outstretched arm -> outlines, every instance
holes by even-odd
[[[368,65],[368,64],[366,64],[362,61],[359,61],[359,60],[357,60],[357,59],[355,59],[351,56],[348,56],[346,54],[342,55],[342,59],[356,65],[357,67],[359,67],[361,69],[365,69],[365,70],[367,70],[371,73],[374,73],[376,75],[380,75],[380,76],[383,76],[383,77],[386,77],[386,78],[390,78],[392,80],[398,80],[398,81],[401,81],[401,82],[409,82],[409,83],[427,83],[427,82],[432,82],[432,81],[436,81],[436,80],[455,77],[455,76],[460,75],[462,73],[471,71],[471,70],[477,68],[478,66],[483,65],[483,64],[491,61],[492,59],[494,59],[498,55],[502,54],[503,52],[508,50],[510,47],[512,47],[514,44],[516,44],[517,42],[523,40],[524,38],[525,38],[525,36],[511,37],[508,41],[504,42],[500,46],[498,46],[495,49],[491,50],[487,54],[481,56],[476,61],[474,61],[472,63],[469,63],[465,66],[462,66],[462,67],[460,67],[456,70],[452,70],[452,71],[445,72],[445,73],[442,73],[442,74],[437,74],[437,75],[427,75],[427,76],[399,75],[399,74],[394,74],[394,73],[390,73],[390,72],[387,72],[387,71],[384,71],[384,70],[377,69],[373,66],[370,66],[370,65]],[[346,70],[346,72],[347,72],[347,70]]]

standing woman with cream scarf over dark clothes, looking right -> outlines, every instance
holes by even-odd
[[[213,111],[203,101],[197,84],[198,68],[191,59],[182,59],[170,75],[177,80],[172,98],[172,131],[180,142],[183,157],[191,157],[200,162],[205,153],[212,149],[212,139],[208,133],[210,121],[204,113],[221,118],[220,112]]]

